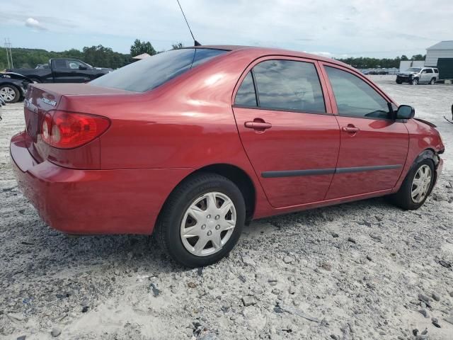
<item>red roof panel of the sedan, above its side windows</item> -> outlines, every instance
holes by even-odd
[[[200,45],[200,46],[188,46],[184,48],[208,48],[212,50],[226,50],[226,51],[239,51],[239,50],[253,50],[260,55],[287,55],[291,57],[302,57],[307,59],[321,60],[324,62],[331,62],[344,67],[352,68],[350,65],[344,62],[339,62],[333,58],[322,57],[321,55],[314,55],[307,52],[299,52],[292,50],[285,50],[275,47],[260,47],[260,46],[241,46],[241,45]]]

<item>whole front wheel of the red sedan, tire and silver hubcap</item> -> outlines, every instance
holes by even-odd
[[[399,191],[391,196],[392,202],[405,210],[420,208],[432,190],[434,171],[434,163],[431,159],[423,159],[415,164],[408,172]]]

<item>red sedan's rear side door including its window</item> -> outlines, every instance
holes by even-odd
[[[234,93],[239,135],[276,208],[324,199],[340,131],[313,60],[265,57],[251,64]],[[237,93],[236,93],[237,92]]]

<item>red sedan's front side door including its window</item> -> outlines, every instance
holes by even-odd
[[[326,199],[394,188],[408,153],[406,125],[391,120],[389,101],[365,79],[327,64],[325,70],[340,126],[340,154]]]

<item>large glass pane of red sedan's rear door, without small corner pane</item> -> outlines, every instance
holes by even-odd
[[[314,64],[266,60],[253,67],[260,108],[326,113]]]

